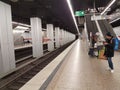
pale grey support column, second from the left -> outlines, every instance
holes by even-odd
[[[42,43],[42,21],[40,18],[33,17],[31,21],[33,57],[41,57],[43,55]]]

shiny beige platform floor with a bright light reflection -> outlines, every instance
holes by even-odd
[[[120,52],[113,58],[114,73],[106,60],[87,53],[85,41],[78,40],[46,90],[120,90]]]

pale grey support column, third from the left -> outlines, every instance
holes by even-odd
[[[54,50],[54,35],[53,35],[53,25],[47,24],[47,38],[48,41],[48,51]]]

